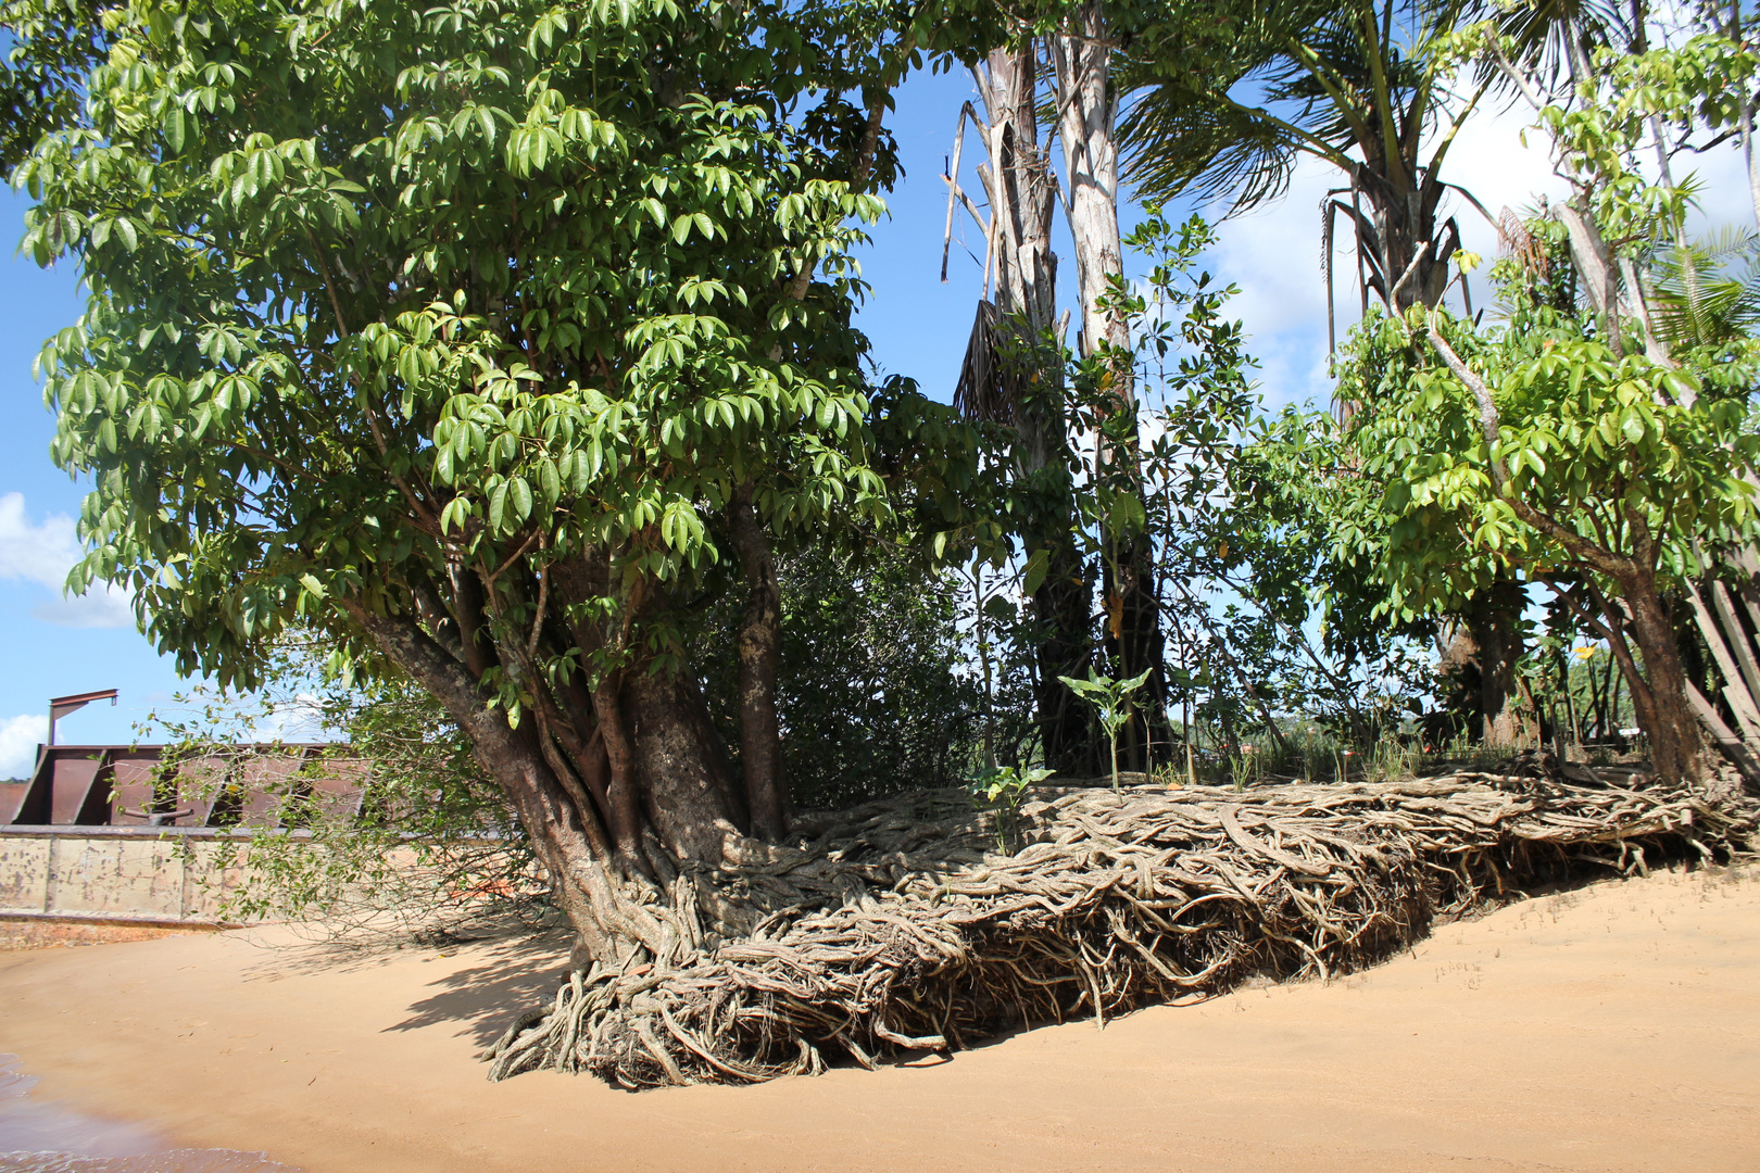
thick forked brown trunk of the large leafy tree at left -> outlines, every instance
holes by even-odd
[[[602,566],[600,566],[602,570]],[[602,587],[590,559],[544,572],[561,601]],[[468,575],[465,577],[468,580]],[[482,598],[480,589],[459,598]],[[674,651],[597,668],[597,686],[537,686],[509,721],[479,684],[477,668],[408,616],[378,616],[347,603],[385,656],[422,684],[470,737],[473,756],[507,797],[544,867],[560,909],[579,934],[576,965],[683,964],[713,937],[741,932],[743,911],[727,906],[704,871],[741,851],[744,795],[734,783],[695,679]],[[458,612],[454,612],[458,614]],[[461,628],[472,626],[465,614]],[[540,628],[539,635],[561,628]],[[605,631],[576,623],[591,659]],[[537,642],[533,638],[533,642]],[[528,649],[495,642],[493,656],[530,686]]]

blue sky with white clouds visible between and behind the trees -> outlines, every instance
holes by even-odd
[[[861,257],[875,287],[861,324],[887,373],[917,378],[924,392],[947,399],[972,329],[982,288],[979,262],[956,243],[949,281],[940,281],[942,225],[947,188],[940,179],[952,148],[959,104],[975,100],[963,72],[919,74],[899,91],[892,118],[906,176],[889,197],[891,216],[875,230],[875,244]],[[1494,213],[1521,208],[1535,193],[1559,192],[1559,181],[1542,151],[1521,142],[1519,113],[1485,113],[1471,121],[1450,157],[1456,181],[1473,188]],[[1535,134],[1529,141],[1538,142]],[[966,190],[982,188],[970,172],[979,151],[966,149]],[[1705,183],[1705,220],[1753,223],[1741,160],[1720,149],[1698,160]],[[1241,287],[1234,302],[1260,359],[1267,404],[1324,403],[1331,394],[1325,373],[1325,294],[1320,285],[1318,202],[1332,174],[1320,164],[1297,169],[1290,193],[1251,215],[1228,220],[1211,255],[1213,271]],[[18,239],[25,197],[0,192],[0,237]],[[961,225],[963,222],[963,225]],[[982,257],[982,237],[961,213],[956,232]],[[1463,211],[1466,244],[1485,257],[1496,239],[1477,213]],[[1061,230],[1061,225],[1060,225]],[[1074,271],[1067,239],[1058,246],[1063,273]],[[49,696],[118,688],[116,707],[95,705],[58,726],[62,742],[132,739],[134,725],[153,707],[187,688],[169,659],[160,658],[134,630],[127,601],[116,596],[65,600],[60,580],[77,557],[74,519],[81,485],[49,463],[55,420],[42,408],[32,378],[32,359],[42,339],[69,325],[81,311],[76,274],[69,267],[39,269],[0,253],[0,777],[30,769],[42,739]],[[1341,251],[1336,271],[1353,271]],[[1068,290],[1060,290],[1070,304]],[[1343,332],[1355,317],[1357,295],[1348,280],[1338,283]]]

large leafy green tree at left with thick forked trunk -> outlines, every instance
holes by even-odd
[[[875,26],[118,9],[90,125],[18,174],[25,248],[92,290],[42,357],[55,459],[93,482],[74,584],[127,582],[222,684],[296,621],[343,677],[417,681],[584,955],[741,930],[713,869],[780,795],[729,767],[693,600],[753,526],[889,514],[847,260],[892,172]]]

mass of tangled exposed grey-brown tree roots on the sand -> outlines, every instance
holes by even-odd
[[[806,849],[704,878],[723,943],[593,965],[489,1048],[623,1087],[759,1082],[959,1048],[1021,1024],[1331,978],[1436,918],[1584,869],[1746,851],[1760,802],[1456,774],[1408,783],[1035,791],[1019,851],[963,791],[876,802]],[[739,923],[741,909],[746,923]],[[762,920],[759,920],[762,916]],[[711,941],[715,934],[711,934]]]

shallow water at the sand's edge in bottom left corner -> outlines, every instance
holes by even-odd
[[[299,1173],[268,1154],[172,1148],[141,1126],[37,1103],[21,1066],[0,1055],[0,1173]]]

